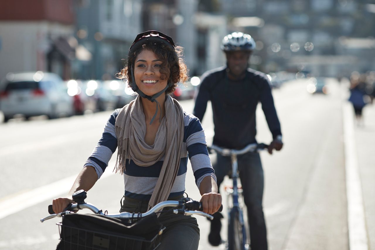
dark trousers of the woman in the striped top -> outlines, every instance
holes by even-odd
[[[178,197],[173,200],[179,200]],[[147,211],[148,200],[124,198],[120,212]],[[199,227],[196,218],[191,215],[162,212],[159,222],[166,228],[163,230],[161,241],[157,250],[197,250],[199,245]]]

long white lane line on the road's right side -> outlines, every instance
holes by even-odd
[[[359,175],[354,116],[351,104],[342,106],[344,122],[345,175],[348,202],[349,249],[368,250],[368,239],[363,208],[362,185]]]

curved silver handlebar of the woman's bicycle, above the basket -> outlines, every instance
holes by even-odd
[[[205,216],[207,218],[210,218],[211,220],[213,219],[213,216],[210,215],[210,214],[206,214],[206,213],[201,212],[201,211],[194,211],[194,210],[203,210],[201,202],[198,202],[198,201],[195,201],[195,200],[192,200],[192,199],[187,199],[187,202],[186,202],[186,198],[185,198],[185,200],[184,199],[182,199],[182,200],[166,200],[164,202],[157,203],[149,211],[147,211],[145,213],[142,213],[142,214],[133,214],[133,213],[129,213],[129,212],[121,212],[121,213],[118,213],[118,214],[105,214],[105,213],[102,212],[102,210],[99,210],[94,205],[92,205],[90,203],[86,203],[86,202],[72,203],[65,209],[65,211],[63,211],[61,213],[58,213],[58,214],[54,214],[54,212],[52,210],[52,205],[49,205],[48,206],[48,212],[50,214],[52,212],[52,214],[43,218],[43,219],[41,219],[40,221],[43,222],[43,221],[49,220],[51,218],[62,217],[63,215],[67,215],[67,214],[72,213],[73,211],[78,211],[78,210],[84,209],[84,208],[90,209],[95,214],[105,215],[105,216],[113,217],[113,218],[122,218],[122,219],[142,218],[142,217],[150,215],[154,212],[158,212],[165,207],[182,207],[180,209],[174,209],[173,212],[175,214],[186,214],[186,215],[197,214],[197,215],[202,215],[202,216]],[[220,206],[219,212],[221,212],[222,209],[223,209],[223,205]]]

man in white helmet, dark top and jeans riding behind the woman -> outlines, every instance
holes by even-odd
[[[242,149],[256,143],[255,111],[261,102],[269,129],[273,136],[268,151],[281,150],[283,143],[281,128],[271,93],[269,80],[262,72],[248,68],[249,58],[255,49],[254,39],[241,32],[224,37],[221,44],[226,56],[226,66],[205,72],[196,96],[194,115],[202,120],[211,101],[213,109],[213,144],[230,149]],[[217,185],[231,170],[230,157],[217,154],[213,165]],[[251,249],[267,249],[267,232],[262,199],[264,176],[260,155],[249,152],[238,157],[238,167],[243,196],[248,210]],[[220,218],[217,212],[211,221],[208,241],[211,245],[221,242]]]

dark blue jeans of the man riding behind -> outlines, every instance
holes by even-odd
[[[251,250],[267,249],[267,230],[263,214],[263,167],[258,153],[249,152],[237,157],[245,205],[248,210]],[[217,185],[232,170],[230,157],[217,154],[213,164]]]

